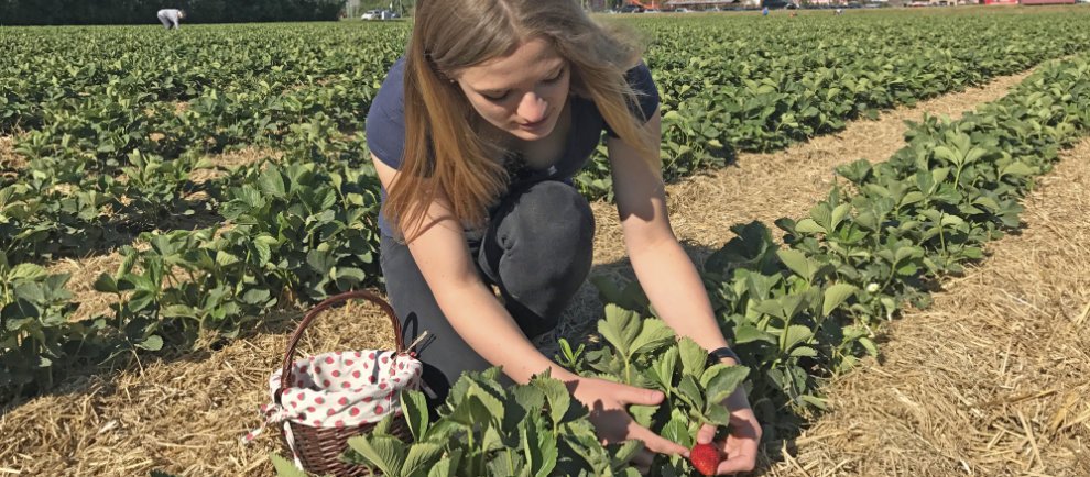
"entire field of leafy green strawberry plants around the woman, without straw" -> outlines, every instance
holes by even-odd
[[[601,278],[604,308],[582,317],[595,339],[565,336],[557,360],[664,391],[662,406],[631,412],[683,445],[701,423],[727,423],[713,403],[737,386],[766,441],[789,440],[827,407],[825,381],[881,352],[885,321],[928,307],[944,279],[987,262],[987,242],[1018,230],[1035,177],[1087,134],[1088,13],[626,20],[650,43],[671,182],[1038,69],[957,121],[912,125],[891,157],[842,164],[805,217],[716,225],[726,245],[698,265],[745,368],[706,367],[636,285]],[[381,288],[363,124],[407,34],[350,22],[195,25],[170,38],[0,29],[11,52],[0,57],[0,404],[218,350],[270,313]],[[240,151],[260,158],[225,164]],[[610,200],[604,157],[577,185]],[[91,280],[94,295],[53,271],[105,255],[118,266]],[[88,296],[107,304],[88,310]],[[559,382],[504,389],[491,377],[459,381],[437,422],[406,393],[414,442],[380,425],[346,458],[405,476],[634,475],[639,443],[601,445]],[[680,458],[655,470],[691,472]]]

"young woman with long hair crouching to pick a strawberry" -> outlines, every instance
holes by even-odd
[[[502,366],[568,384],[604,442],[687,450],[636,424],[658,391],[582,378],[530,339],[552,330],[590,270],[595,222],[571,186],[607,133],[618,212],[640,284],[680,336],[729,357],[704,285],[674,236],[658,156],[658,95],[641,49],[574,0],[421,0],[405,57],[367,118],[383,186],[381,265],[406,341],[423,331],[439,399],[464,370]],[[498,293],[493,291],[498,289]],[[497,296],[499,295],[499,296]],[[724,406],[730,474],[753,468],[761,428],[743,390]],[[710,442],[715,428],[698,435]]]

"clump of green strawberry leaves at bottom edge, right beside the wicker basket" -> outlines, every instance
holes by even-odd
[[[402,392],[414,440],[404,442],[379,425],[349,440],[345,458],[404,477],[637,475],[629,462],[642,444],[601,445],[587,409],[563,382],[546,375],[504,389],[498,374],[492,368],[464,375],[434,423],[421,392]]]

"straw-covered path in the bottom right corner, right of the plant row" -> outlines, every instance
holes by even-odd
[[[892,323],[772,475],[1090,475],[1090,138],[1062,156],[1022,233]]]

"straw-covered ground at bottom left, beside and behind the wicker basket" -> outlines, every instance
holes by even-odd
[[[0,475],[271,475],[275,432],[250,445],[239,437],[260,425],[269,375],[280,369],[299,318],[277,313],[255,335],[219,351],[80,379],[6,412]],[[389,319],[360,303],[319,315],[296,355],[393,347]]]

